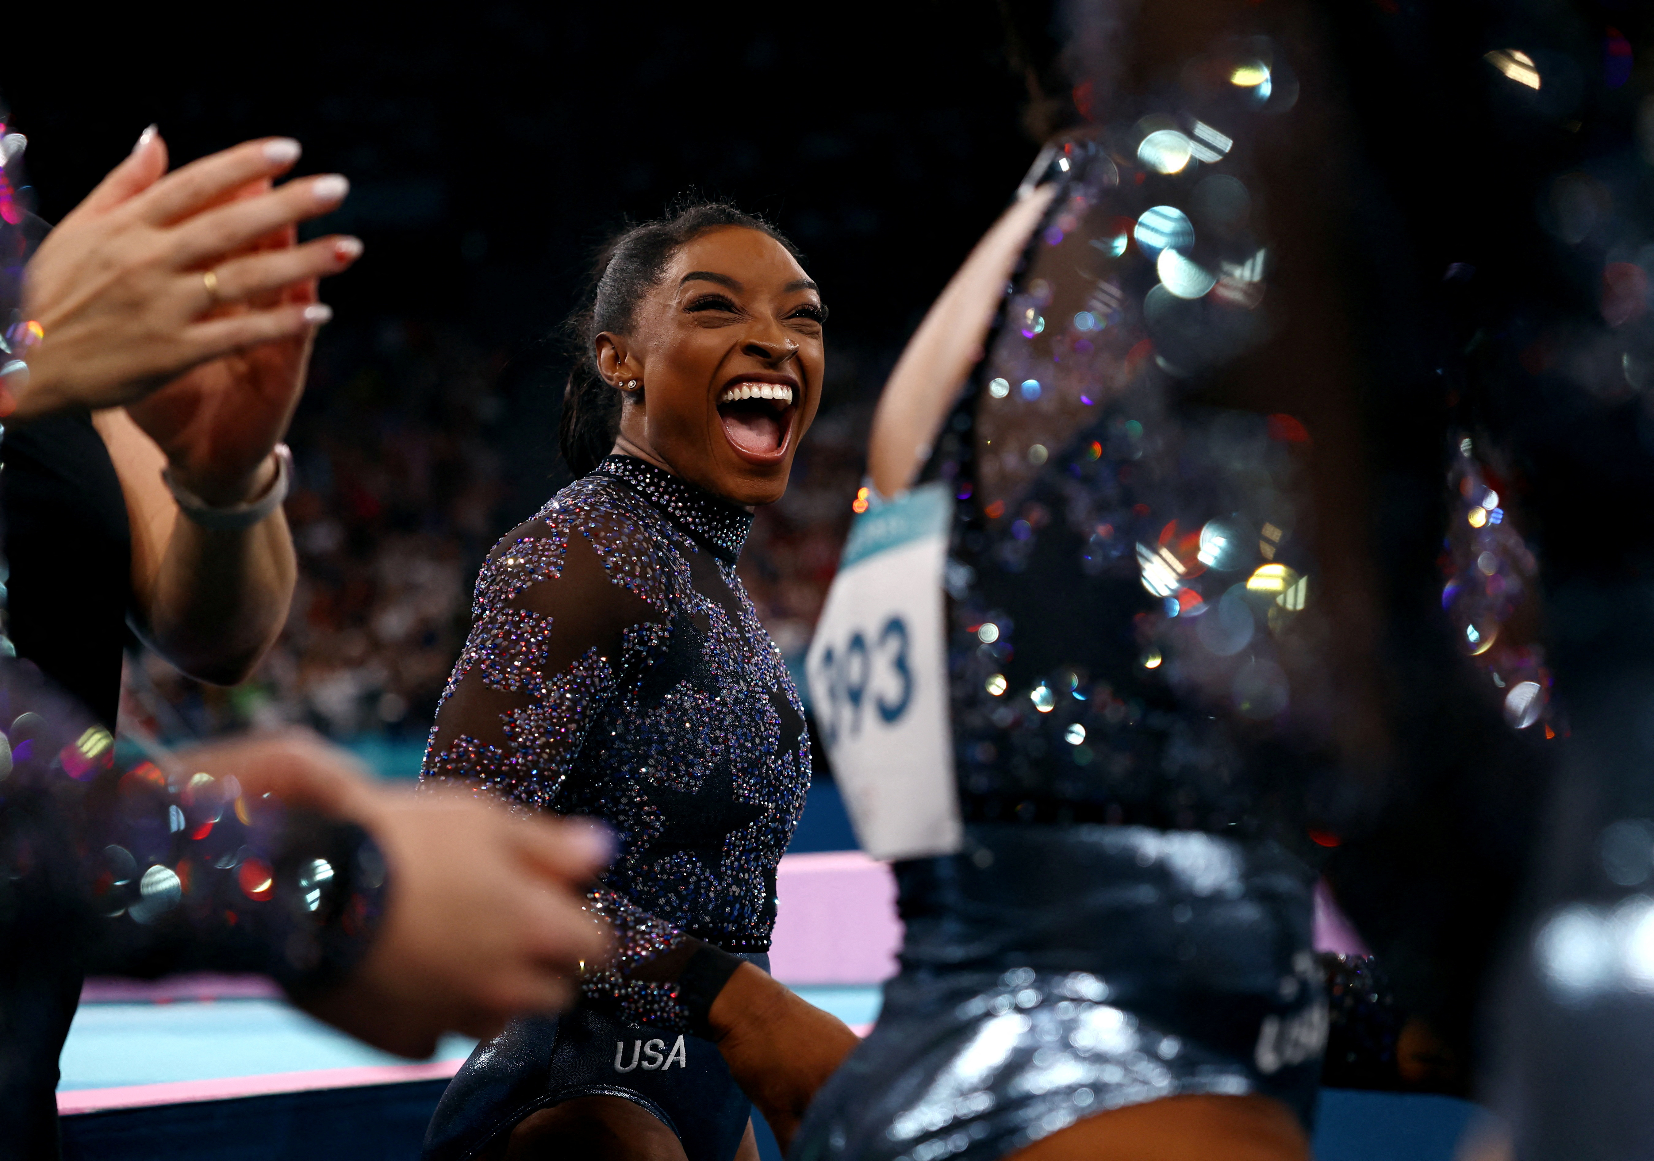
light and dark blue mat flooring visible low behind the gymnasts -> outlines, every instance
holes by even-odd
[[[877,987],[799,987],[847,1024],[878,1015]],[[457,1060],[470,1042],[443,1042]],[[405,1063],[271,999],[84,1004],[60,1092]],[[445,1080],[351,1085],[109,1108],[63,1118],[68,1161],[412,1161]],[[1452,1161],[1475,1108],[1446,1096],[1327,1090],[1318,1161]],[[759,1130],[766,1161],[779,1161]]]

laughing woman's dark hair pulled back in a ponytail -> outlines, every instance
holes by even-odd
[[[599,251],[581,306],[564,324],[574,367],[562,389],[557,448],[576,476],[602,463],[620,432],[620,392],[597,370],[597,336],[604,331],[627,334],[637,304],[660,283],[678,250],[723,227],[758,230],[802,258],[764,218],[743,213],[729,202],[710,200],[678,202],[665,217],[627,227]]]

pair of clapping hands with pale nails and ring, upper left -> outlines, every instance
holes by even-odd
[[[184,486],[213,503],[256,491],[331,316],[316,281],[361,253],[296,243],[347,190],[336,174],[273,187],[298,155],[273,137],[167,174],[147,131],[28,265],[23,309],[45,337],[15,418],[129,404]]]

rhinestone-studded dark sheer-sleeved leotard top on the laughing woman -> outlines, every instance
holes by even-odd
[[[620,956],[584,991],[638,1022],[681,1024],[676,986],[633,971],[683,936],[769,948],[809,789],[802,703],[734,569],[751,523],[629,456],[559,491],[483,566],[425,754],[422,779],[615,830],[590,906]]]

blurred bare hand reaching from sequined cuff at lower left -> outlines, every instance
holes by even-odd
[[[442,1032],[491,1037],[518,1012],[574,999],[609,953],[584,890],[612,840],[582,819],[519,819],[460,791],[397,791],[341,751],[293,733],[195,749],[190,769],[361,824],[385,853],[389,905],[367,958],[306,1010],[372,1045],[430,1055]]]

